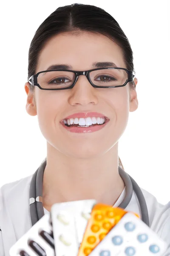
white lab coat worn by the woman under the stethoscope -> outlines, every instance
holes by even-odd
[[[7,183],[0,188],[0,256],[9,256],[9,250],[30,228],[29,187],[32,175],[20,180]],[[114,204],[119,206],[125,197],[125,189]],[[170,256],[170,202],[159,204],[156,198],[142,189],[149,212],[150,228],[155,231],[169,245],[165,256]],[[127,211],[141,215],[136,194]],[[44,208],[44,212],[48,212]]]

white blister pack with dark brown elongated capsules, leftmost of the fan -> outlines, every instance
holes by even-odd
[[[50,213],[45,214],[9,250],[10,256],[55,256]]]

